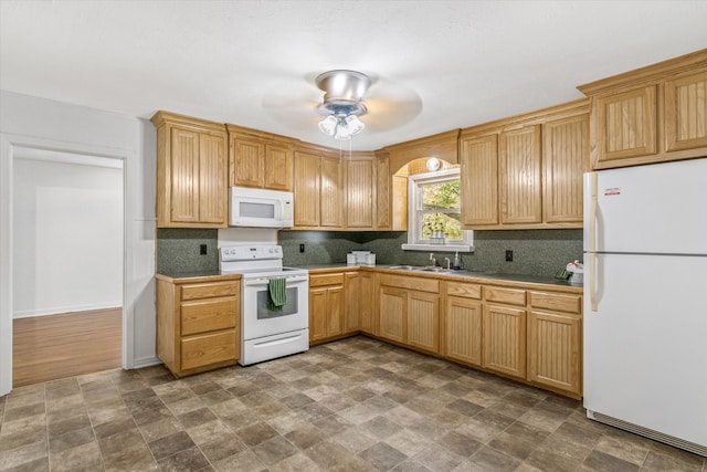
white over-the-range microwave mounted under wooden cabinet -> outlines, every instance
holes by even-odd
[[[229,225],[291,228],[294,224],[294,195],[291,191],[229,188]]]

